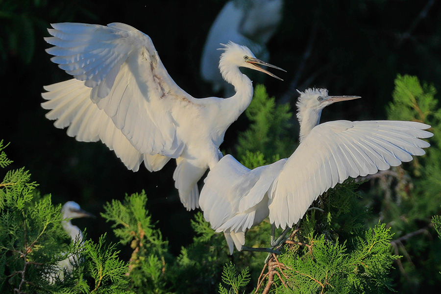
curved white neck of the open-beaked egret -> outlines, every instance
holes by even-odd
[[[253,83],[241,71],[239,67],[233,64],[225,64],[220,62],[222,77],[228,83],[234,86],[236,94],[230,98],[224,99],[227,104],[227,109],[224,115],[227,116],[228,121],[233,123],[245,111],[253,98]],[[230,124],[231,124],[230,123]]]

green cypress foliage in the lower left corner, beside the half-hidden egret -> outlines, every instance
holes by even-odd
[[[11,162],[1,154],[1,162]],[[36,186],[24,168],[7,171],[0,183],[0,292],[130,293],[127,265],[115,246],[106,245],[104,236],[98,244],[67,240],[60,205],[50,195],[41,197]],[[72,256],[81,256],[74,270],[58,275],[56,263]]]

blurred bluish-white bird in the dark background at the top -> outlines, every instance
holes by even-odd
[[[259,58],[268,59],[266,44],[282,19],[282,6],[282,0],[232,0],[223,6],[210,27],[200,60],[200,75],[214,91],[229,94],[232,90],[218,70],[219,43],[243,44]]]

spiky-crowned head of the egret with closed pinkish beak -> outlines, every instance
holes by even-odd
[[[297,92],[300,94],[296,103],[299,112],[306,109],[320,112],[332,103],[361,98],[360,96],[329,96],[328,90],[316,88],[306,89],[305,92],[297,90]]]

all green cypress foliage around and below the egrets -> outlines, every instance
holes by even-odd
[[[389,119],[431,124],[435,136],[427,155],[369,176],[370,186],[348,179],[328,190],[275,248],[280,253],[273,254],[235,251],[230,256],[223,234],[215,233],[198,212],[192,244],[173,256],[146,208],[144,191],[103,207],[101,217],[110,223],[118,244],[106,241],[106,235],[98,242],[87,236],[84,243],[72,241],[60,225],[60,205],[53,205],[50,195],[39,195],[24,168],[7,171],[12,161],[1,141],[0,292],[422,291],[441,280],[441,242],[431,237],[435,229],[441,232],[440,216],[433,217],[440,214],[441,200],[441,110],[435,94],[433,86],[421,85],[416,77],[398,75]],[[240,134],[234,154],[245,166],[291,155],[292,113],[287,105],[276,105],[258,85],[246,115],[251,124]],[[252,227],[245,244],[269,247],[270,230],[267,221]],[[130,258],[122,260],[120,248]],[[73,271],[64,270],[51,283],[49,275],[60,271],[56,263],[72,255],[80,256]]]

